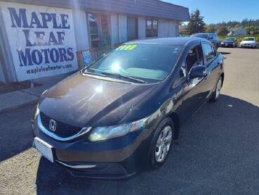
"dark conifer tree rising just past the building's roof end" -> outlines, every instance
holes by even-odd
[[[190,17],[190,23],[188,23],[186,30],[188,34],[194,34],[197,32],[204,32],[204,17],[202,17],[199,13],[199,10],[197,9],[196,11],[191,13]]]

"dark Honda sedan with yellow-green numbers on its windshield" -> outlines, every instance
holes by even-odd
[[[206,39],[127,42],[42,94],[33,146],[75,177],[159,168],[182,125],[218,100],[224,77],[223,56]]]

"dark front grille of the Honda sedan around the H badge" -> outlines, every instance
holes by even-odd
[[[62,138],[72,137],[73,135],[79,133],[82,129],[81,127],[74,127],[72,125],[67,125],[63,122],[55,120],[56,128],[55,128],[55,132],[53,132],[49,129],[49,121],[52,118],[50,118],[48,115],[42,112],[40,112],[40,117],[41,117],[41,124],[45,127],[45,129],[48,130],[48,132],[51,132],[57,135],[58,137],[62,137]]]

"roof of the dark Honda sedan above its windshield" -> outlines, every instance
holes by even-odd
[[[127,43],[185,45],[189,42],[204,42],[204,41],[205,41],[204,39],[201,39],[198,37],[156,37],[156,38],[138,39]]]

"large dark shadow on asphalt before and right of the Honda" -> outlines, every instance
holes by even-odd
[[[258,106],[221,95],[217,102],[206,103],[182,127],[161,168],[143,170],[130,180],[74,178],[64,168],[41,157],[36,193],[232,194],[244,191],[244,184],[248,184],[257,194],[258,115]]]

